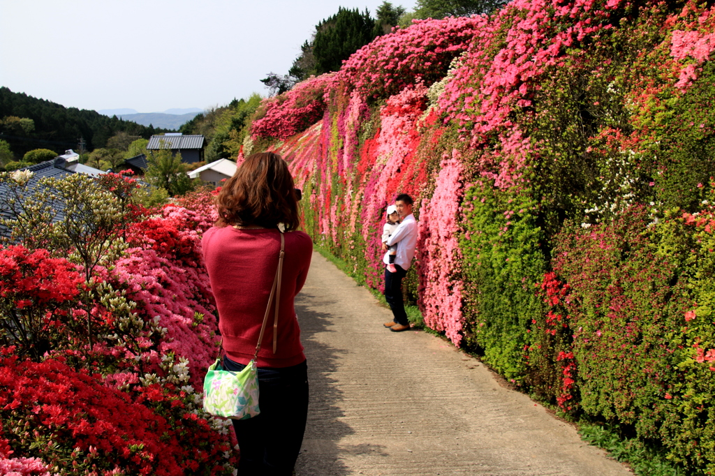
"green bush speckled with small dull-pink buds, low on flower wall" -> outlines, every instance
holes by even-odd
[[[680,344],[676,262],[658,259],[642,207],[608,224],[569,227],[554,249],[554,269],[568,282],[568,325],[578,366],[581,407],[658,439],[671,412],[666,394]]]

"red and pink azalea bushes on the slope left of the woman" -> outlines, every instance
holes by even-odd
[[[4,222],[21,244],[0,249],[0,472],[232,474],[230,422],[200,410],[212,194],[147,210],[117,174],[0,180],[3,207],[25,210]],[[54,224],[52,196],[67,199]]]

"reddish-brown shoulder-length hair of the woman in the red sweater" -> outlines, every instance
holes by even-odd
[[[251,154],[216,197],[218,227],[259,225],[286,232],[300,226],[298,201],[288,164],[273,152]]]

